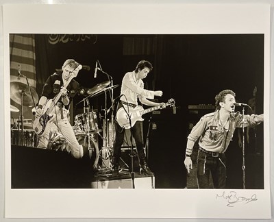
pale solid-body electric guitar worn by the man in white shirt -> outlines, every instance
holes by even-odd
[[[165,105],[166,107],[174,106],[175,105],[174,99],[169,99],[168,102],[165,103]],[[159,110],[161,108],[162,106],[153,106],[151,108],[144,110],[142,106],[136,106],[135,108],[129,107],[129,110],[127,110],[127,108],[124,109],[122,107],[117,111],[116,120],[121,127],[124,127],[125,129],[130,129],[130,125],[132,125],[133,127],[136,121],[144,121],[144,119],[142,119],[143,114],[147,114],[148,112]],[[127,114],[127,112],[129,113]]]

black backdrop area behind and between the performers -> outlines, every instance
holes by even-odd
[[[50,44],[49,39],[57,40]],[[166,108],[160,113],[147,115],[144,138],[149,135],[149,166],[155,172],[155,188],[186,187],[184,153],[190,123],[195,124],[210,108],[193,110],[189,105],[212,104],[223,89],[236,93],[236,101],[247,103],[253,97],[256,86],[256,113],[263,112],[264,100],[264,35],[263,34],[199,34],[199,35],[36,35],[36,91],[40,96],[47,77],[61,69],[66,59],[73,58],[82,65],[75,78],[83,88],[113,78],[114,97],[119,96],[123,75],[133,71],[140,60],[149,60],[153,71],[144,79],[145,88],[162,90],[158,101],[175,99],[176,112]],[[98,71],[93,77],[95,62],[99,60],[105,75]],[[82,113],[84,99],[77,95],[73,101],[73,116]],[[105,96],[90,97],[90,104],[99,114],[103,113]],[[110,107],[110,97],[107,98]],[[238,109],[240,110],[240,109]],[[241,111],[241,110],[240,110]],[[246,110],[247,111],[247,110]],[[148,119],[151,116],[151,125]],[[108,116],[109,118],[110,116]],[[72,123],[73,124],[73,123]],[[152,127],[153,125],[153,127]],[[147,134],[149,130],[149,134]],[[227,150],[227,184],[229,188],[242,188],[242,153],[236,141]],[[252,162],[262,166],[263,128],[258,127],[255,151],[247,151],[247,175],[249,188],[263,188],[263,168],[253,171]],[[249,161],[250,160],[250,161]],[[256,176],[258,175],[258,176]]]

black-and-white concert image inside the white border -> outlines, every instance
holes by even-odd
[[[263,34],[10,34],[10,64],[12,188],[264,188]]]

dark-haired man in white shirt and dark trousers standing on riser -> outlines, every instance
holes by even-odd
[[[135,71],[125,73],[125,76],[122,80],[121,85],[121,99],[119,101],[117,110],[119,108],[125,108],[128,110],[128,107],[134,108],[138,105],[137,99],[147,106],[162,106],[165,108],[165,103],[155,103],[149,101],[148,99],[154,99],[154,97],[162,97],[162,91],[152,91],[144,89],[144,82],[142,79],[145,79],[149,72],[152,70],[152,65],[146,60],[141,60],[138,62]],[[138,151],[140,172],[145,173],[146,175],[153,175],[149,167],[147,166],[147,160],[144,151],[144,145],[142,141],[142,131],[141,131],[141,121],[136,121],[132,126],[132,133],[134,140],[136,142],[136,148]],[[125,129],[123,129],[117,121],[115,121],[115,142],[114,142],[114,155],[112,159],[113,163],[113,173],[114,177],[119,177],[119,158],[121,157],[121,146],[124,140]]]

